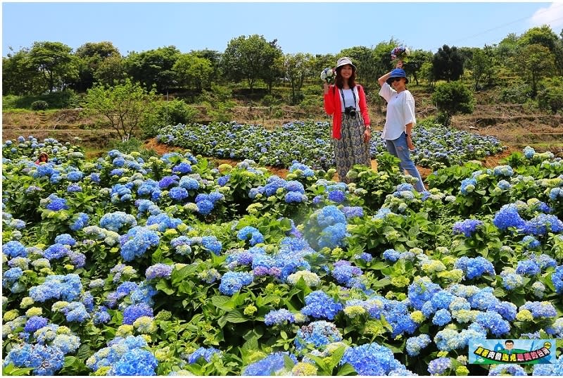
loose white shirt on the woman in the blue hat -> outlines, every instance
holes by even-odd
[[[381,138],[395,140],[406,131],[406,125],[417,122],[415,118],[415,98],[406,89],[397,91],[387,83],[379,89],[379,95],[387,101],[387,118]]]

